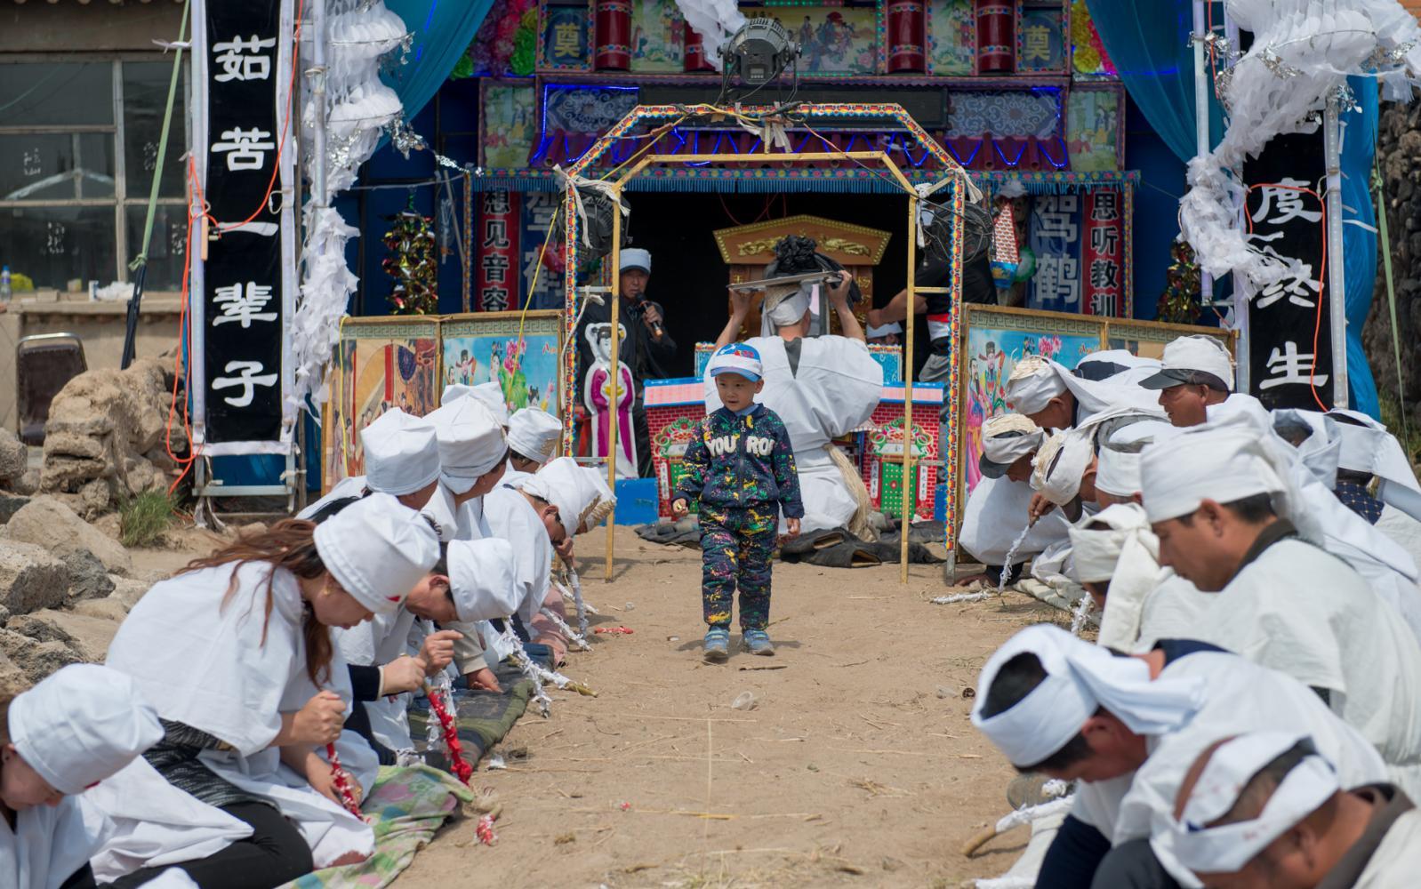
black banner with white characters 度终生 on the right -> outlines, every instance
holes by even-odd
[[[1299,274],[1263,287],[1248,307],[1249,392],[1266,408],[1333,405],[1324,170],[1322,131],[1275,136],[1243,163],[1249,243],[1300,263]]]

